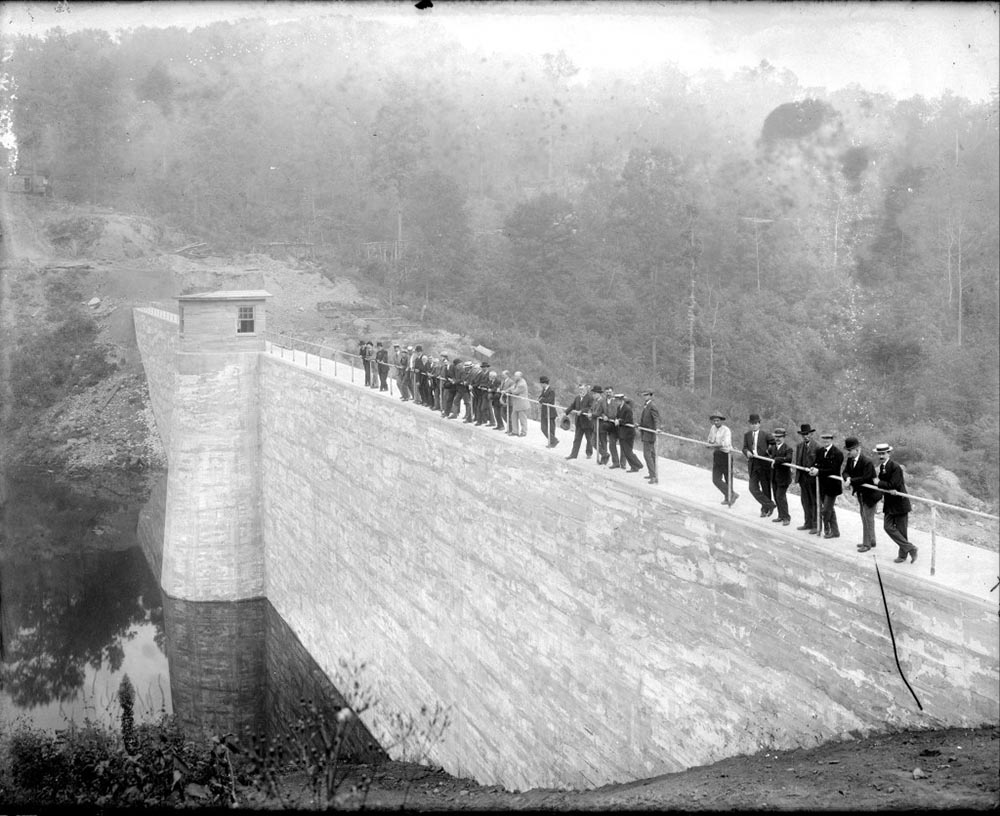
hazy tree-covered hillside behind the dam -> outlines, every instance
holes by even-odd
[[[996,503],[996,93],[767,63],[582,82],[336,14],[7,45],[18,166],[56,196],[311,242],[487,345],[557,350],[564,386],[651,384],[667,430],[811,422]]]

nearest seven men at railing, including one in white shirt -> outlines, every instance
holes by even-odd
[[[732,505],[739,494],[732,490],[732,460],[735,450],[732,433],[722,423],[725,417],[712,414],[709,419],[707,444],[714,449],[712,481],[725,498],[722,503]],[[778,511],[775,523],[791,523],[788,512],[788,488],[795,482],[799,486],[804,523],[799,530],[824,538],[839,538],[837,524],[837,497],[845,486],[858,500],[861,514],[862,541],[859,552],[875,548],[875,508],[883,502],[883,527],[886,535],[896,544],[899,552],[895,559],[901,564],[909,558],[917,560],[917,548],[907,538],[907,520],[911,510],[906,497],[903,469],[892,460],[892,446],[880,443],[872,448],[878,458],[875,463],[861,451],[860,441],[853,436],[844,440],[845,452],[834,445],[834,435],[829,431],[813,438],[816,429],[809,423],[799,426],[801,441],[793,449],[786,440],[784,428],[771,433],[761,430],[760,416],[750,414],[749,429],[743,434],[742,453],[747,461],[750,493],[760,504],[760,515],[767,518]]]

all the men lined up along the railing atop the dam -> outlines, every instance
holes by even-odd
[[[526,436],[528,410],[533,401],[529,397],[524,374],[515,371],[497,372],[488,361],[475,362],[447,354],[433,356],[424,352],[421,345],[406,346],[394,343],[392,349],[381,342],[375,346],[370,341],[359,343],[359,354],[365,371],[365,385],[385,391],[388,381],[395,379],[400,399],[412,400],[431,410],[440,412],[447,419],[486,425],[509,436]],[[549,378],[538,380],[540,393],[537,402],[541,409],[541,430],[547,447],[559,444],[557,424],[563,430],[573,427],[573,446],[567,459],[576,459],[580,448],[587,458],[597,453],[598,465],[609,465],[628,473],[643,469],[634,452],[636,432],[642,442],[645,478],[657,484],[656,439],[660,428],[660,412],[653,403],[653,392],[641,392],[642,408],[636,421],[633,401],[611,386],[580,385],[573,401],[563,409],[563,419],[557,423],[559,408],[556,393]],[[464,409],[464,411],[463,411]],[[571,423],[570,417],[574,417]],[[732,490],[732,459],[735,448],[732,432],[723,425],[725,416],[720,413],[709,417],[707,444],[713,448],[712,482],[722,492],[722,503],[732,505],[739,494]],[[862,521],[860,552],[875,547],[875,509],[883,502],[883,527],[896,544],[899,553],[896,563],[909,558],[917,559],[917,548],[907,539],[907,519],[911,505],[906,497],[902,468],[892,460],[892,447],[882,443],[872,449],[878,457],[875,464],[861,452],[855,437],[844,440],[844,451],[834,445],[830,432],[813,437],[816,430],[804,423],[799,427],[801,441],[791,447],[786,442],[784,428],[774,428],[770,433],[761,429],[758,414],[750,414],[749,429],[743,434],[743,456],[747,461],[750,493],[760,504],[762,518],[777,510],[775,523],[788,526],[788,488],[799,486],[804,523],[797,529],[824,538],[839,538],[837,524],[837,497],[849,485],[858,500]],[[610,464],[609,464],[610,462]]]

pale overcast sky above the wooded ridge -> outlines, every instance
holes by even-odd
[[[974,100],[1000,84],[998,3],[896,2],[5,2],[3,33],[115,31],[218,19],[348,14],[387,25],[433,21],[489,51],[563,49],[583,69],[630,74],[671,61],[726,74],[766,59],[803,85],[858,83],[897,98],[951,90]]]

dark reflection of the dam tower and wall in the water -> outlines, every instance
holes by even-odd
[[[166,478],[140,513],[139,539],[159,578]],[[317,665],[266,598],[185,601],[163,595],[163,648],[174,716],[190,738],[233,734],[241,742],[287,737],[299,720],[336,728],[348,706],[340,688]],[[360,667],[346,661],[339,681],[356,706],[370,694]],[[314,708],[313,708],[314,707]],[[358,717],[346,729],[341,757],[387,759]],[[246,743],[245,743],[246,744]]]

